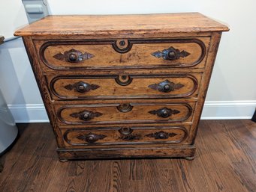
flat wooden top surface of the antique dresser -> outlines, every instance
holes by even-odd
[[[14,35],[110,35],[228,31],[200,13],[47,16]]]

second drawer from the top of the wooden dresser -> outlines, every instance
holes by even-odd
[[[201,73],[48,77],[55,100],[197,97],[200,80]]]

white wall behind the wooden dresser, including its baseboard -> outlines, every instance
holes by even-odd
[[[221,38],[203,118],[251,118],[256,107],[256,1],[48,0],[48,7],[51,14],[200,12],[224,22],[230,31]],[[22,41],[0,46],[0,58],[0,89],[14,118],[19,122],[47,120]]]

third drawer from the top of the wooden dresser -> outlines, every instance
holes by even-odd
[[[116,123],[172,123],[191,121],[195,102],[107,103],[55,105],[59,122],[66,125]]]

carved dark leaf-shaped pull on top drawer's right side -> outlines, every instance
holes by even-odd
[[[179,58],[185,58],[190,55],[189,52],[182,52],[179,49],[175,49],[174,47],[170,47],[169,49],[164,49],[163,51],[153,52],[152,55],[156,58],[163,58],[164,60],[175,61]]]

